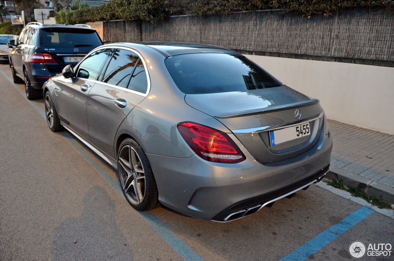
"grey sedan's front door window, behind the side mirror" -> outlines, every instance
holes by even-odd
[[[106,62],[111,49],[101,49],[93,52],[89,57],[83,60],[79,67],[77,77],[89,80],[97,80],[97,76]]]

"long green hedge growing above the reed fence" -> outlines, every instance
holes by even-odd
[[[156,22],[170,15],[219,15],[237,11],[282,9],[299,15],[333,15],[349,6],[394,5],[394,0],[110,0],[107,4],[59,11],[56,22],[76,24],[116,19]]]

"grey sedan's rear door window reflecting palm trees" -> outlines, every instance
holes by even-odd
[[[138,58],[136,53],[129,50],[115,50],[102,81],[126,88]]]

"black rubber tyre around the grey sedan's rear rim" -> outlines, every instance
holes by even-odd
[[[143,195],[143,199],[141,200],[141,202],[139,204],[136,204],[134,202],[132,202],[129,197],[130,197],[130,193],[126,194],[125,192],[125,188],[123,188],[123,183],[125,183],[125,179],[124,179],[124,173],[125,170],[122,168],[121,163],[119,161],[121,161],[120,157],[121,157],[121,152],[123,153],[124,150],[126,149],[130,149],[130,147],[132,149],[134,149],[134,152],[137,153],[138,155],[138,163],[141,163],[142,166],[138,166],[139,170],[143,170],[143,175],[145,176],[145,188],[144,188],[144,195]],[[131,164],[130,164],[131,165]],[[125,166],[125,165],[123,165]],[[135,169],[135,168],[133,168]],[[136,171],[134,171],[135,174],[138,174]],[[157,186],[156,186],[156,181],[154,179],[153,173],[152,173],[152,169],[148,164],[148,160],[147,157],[145,155],[145,153],[143,152],[143,150],[141,149],[141,147],[138,145],[138,143],[131,139],[131,138],[126,138],[125,140],[123,140],[123,142],[121,143],[121,145],[119,146],[119,151],[118,151],[118,177],[119,177],[119,182],[121,185],[121,189],[123,191],[123,195],[125,196],[125,198],[127,199],[128,203],[130,203],[130,205],[138,210],[138,211],[148,211],[151,209],[154,209],[155,207],[157,207],[159,205],[158,203],[158,191],[157,191]],[[137,181],[137,179],[135,179],[134,181]],[[135,183],[134,183],[135,184]],[[141,188],[142,189],[142,185]],[[136,194],[136,193],[134,193]]]

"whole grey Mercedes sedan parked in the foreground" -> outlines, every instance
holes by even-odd
[[[43,88],[49,128],[67,129],[116,168],[138,211],[160,203],[228,222],[328,172],[319,101],[226,48],[103,45]]]

